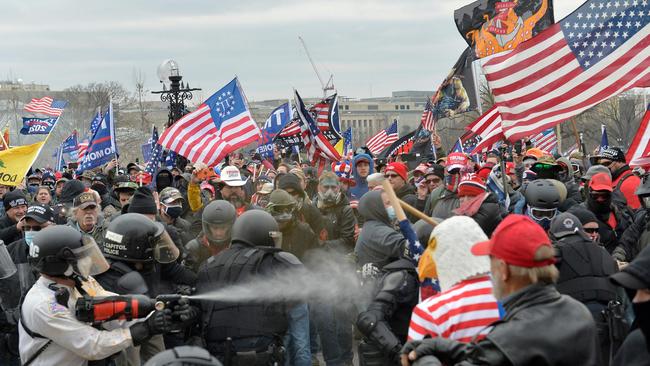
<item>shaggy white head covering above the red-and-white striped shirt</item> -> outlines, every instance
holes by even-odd
[[[467,216],[453,216],[431,232],[436,239],[433,260],[438,270],[440,290],[447,291],[455,284],[476,275],[490,272],[488,257],[471,253],[474,244],[488,240],[476,221]]]

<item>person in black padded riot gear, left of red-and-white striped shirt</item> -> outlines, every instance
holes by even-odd
[[[417,272],[413,263],[404,258],[381,269],[371,266],[374,267],[372,263],[366,264],[363,272],[376,274],[375,290],[370,305],[359,313],[356,323],[364,337],[359,343],[359,365],[395,365],[407,339],[411,312],[418,303]]]

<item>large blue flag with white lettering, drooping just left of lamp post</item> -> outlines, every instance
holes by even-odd
[[[79,165],[78,172],[93,169],[108,163],[118,155],[117,144],[115,143],[115,121],[113,120],[113,105],[109,105],[108,112],[104,115],[102,122],[97,126],[84,160]]]

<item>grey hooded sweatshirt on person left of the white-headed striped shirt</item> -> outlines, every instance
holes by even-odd
[[[374,263],[379,268],[402,257],[406,238],[393,228],[388,218],[381,192],[371,191],[359,201],[359,213],[366,220],[354,248],[357,263],[361,267]]]

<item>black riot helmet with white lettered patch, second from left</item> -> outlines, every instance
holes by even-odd
[[[102,252],[107,258],[125,262],[170,263],[179,255],[165,227],[138,213],[123,214],[111,221]]]

